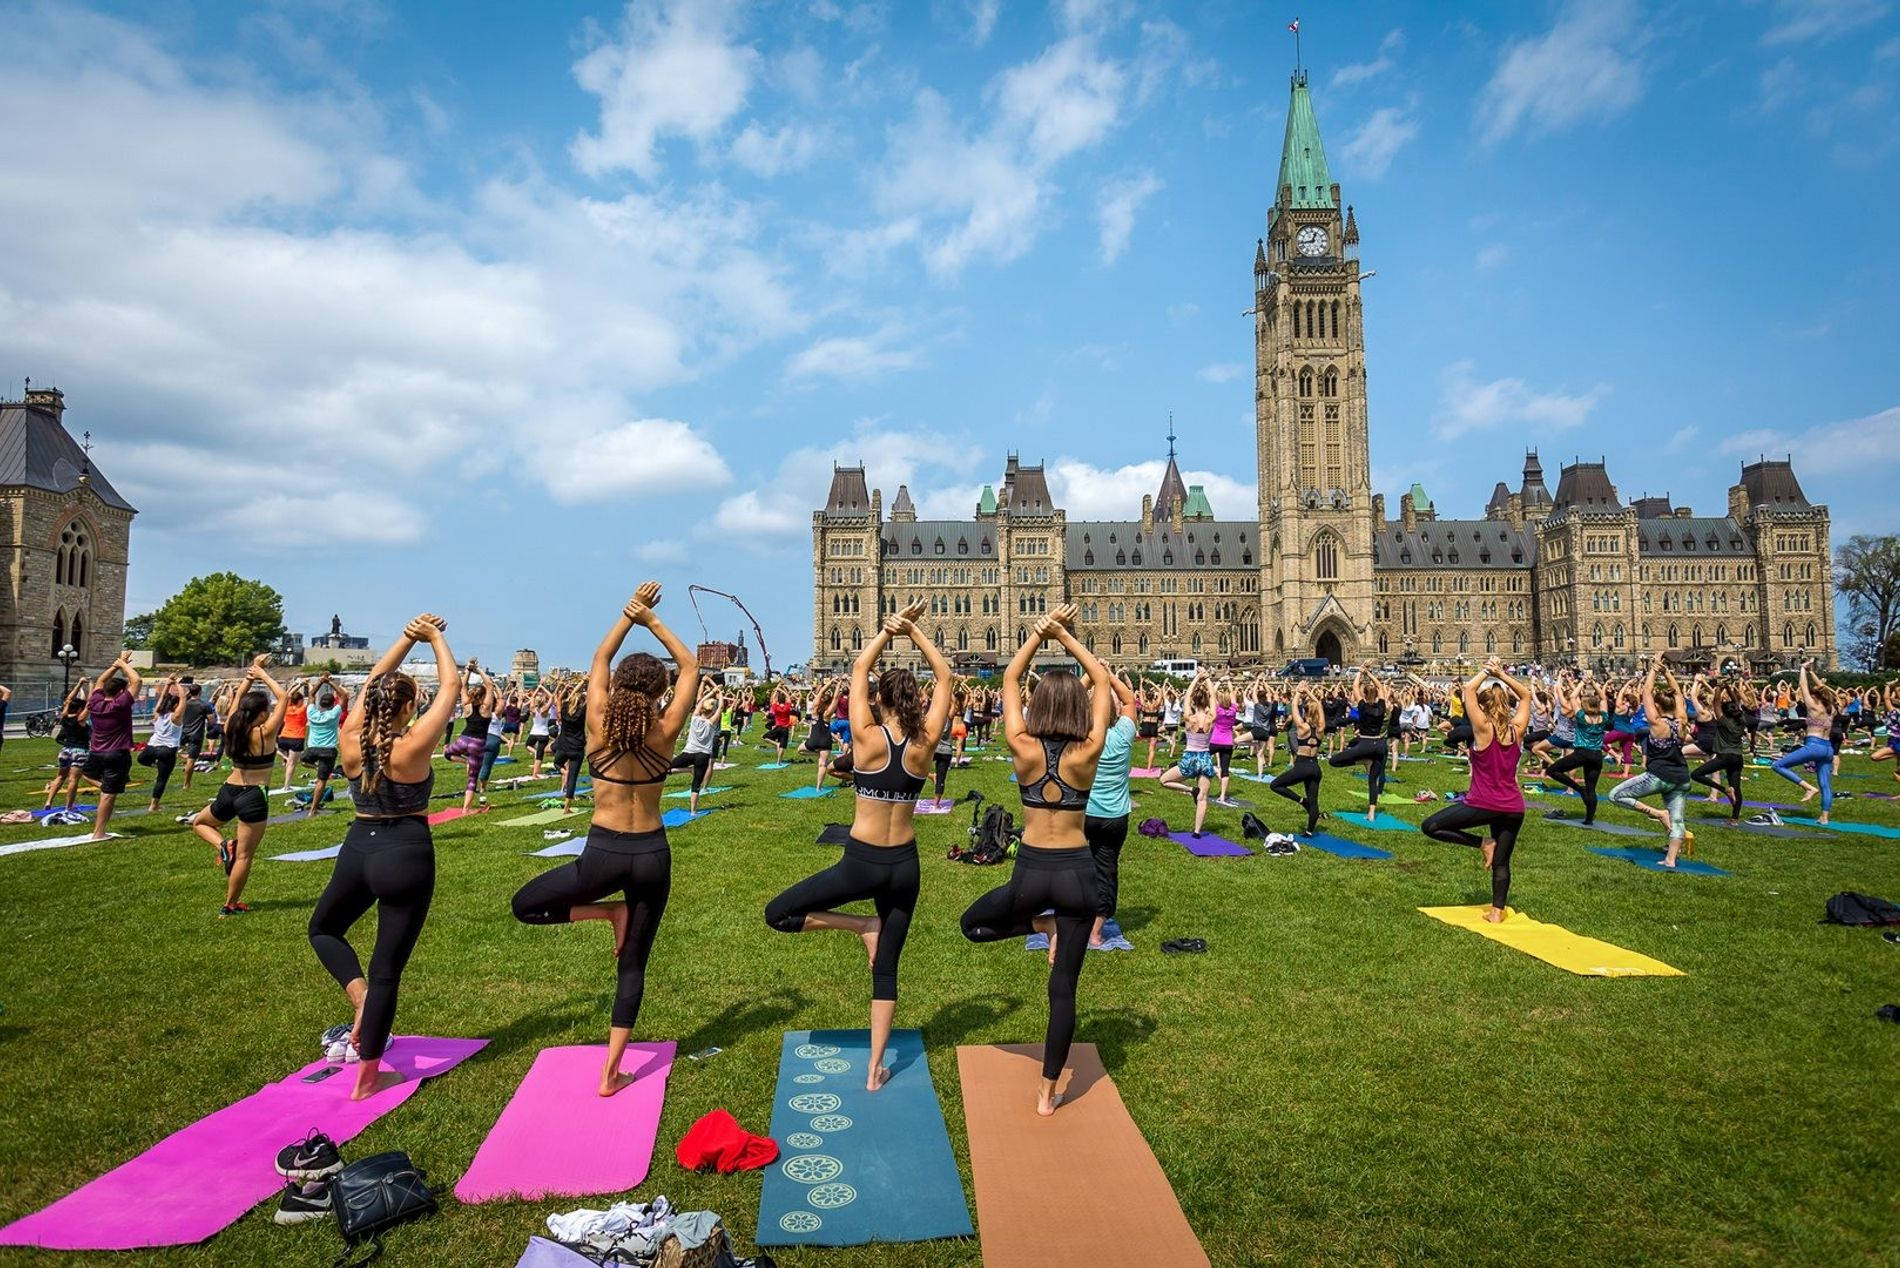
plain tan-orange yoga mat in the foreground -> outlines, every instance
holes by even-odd
[[[984,1268],[1206,1268],[1094,1044],[1070,1047],[1051,1118],[1036,1114],[1041,1044],[958,1047],[956,1066]]]

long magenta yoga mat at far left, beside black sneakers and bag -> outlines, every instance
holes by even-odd
[[[285,1144],[302,1141],[310,1131],[323,1131],[342,1144],[408,1101],[422,1080],[454,1068],[486,1044],[393,1038],[384,1065],[401,1070],[403,1082],[367,1101],[350,1099],[355,1070],[348,1066],[321,1084],[304,1084],[306,1074],[327,1065],[314,1061],[283,1082],[171,1133],[44,1211],[0,1228],[0,1245],[133,1251],[203,1241],[283,1188],[276,1162]]]

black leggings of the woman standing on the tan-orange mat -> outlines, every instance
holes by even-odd
[[[963,937],[999,943],[1026,937],[1036,916],[1056,913],[1056,962],[1049,968],[1049,1030],[1043,1034],[1043,1078],[1060,1078],[1075,1040],[1075,979],[1089,954],[1089,930],[1100,888],[1091,850],[1016,846],[1009,884],[990,890],[963,913]]]

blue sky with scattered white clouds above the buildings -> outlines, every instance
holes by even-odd
[[[1284,10],[1284,11],[1282,11]],[[0,4],[0,386],[294,629],[578,663],[644,576],[809,650],[832,460],[1252,509],[1292,36],[1366,283],[1376,489],[1526,445],[1720,511],[1794,449],[1900,528],[1900,17],[1735,4]],[[732,608],[709,606],[730,637]]]

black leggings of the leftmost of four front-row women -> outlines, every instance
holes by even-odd
[[[348,941],[350,926],[376,909],[376,949],[369,958],[369,996],[357,1051],[376,1061],[395,1025],[395,996],[403,968],[422,937],[435,897],[435,844],[422,817],[355,819],[344,833],[336,871],[310,913],[310,947],[338,987],[363,977],[363,962]]]

